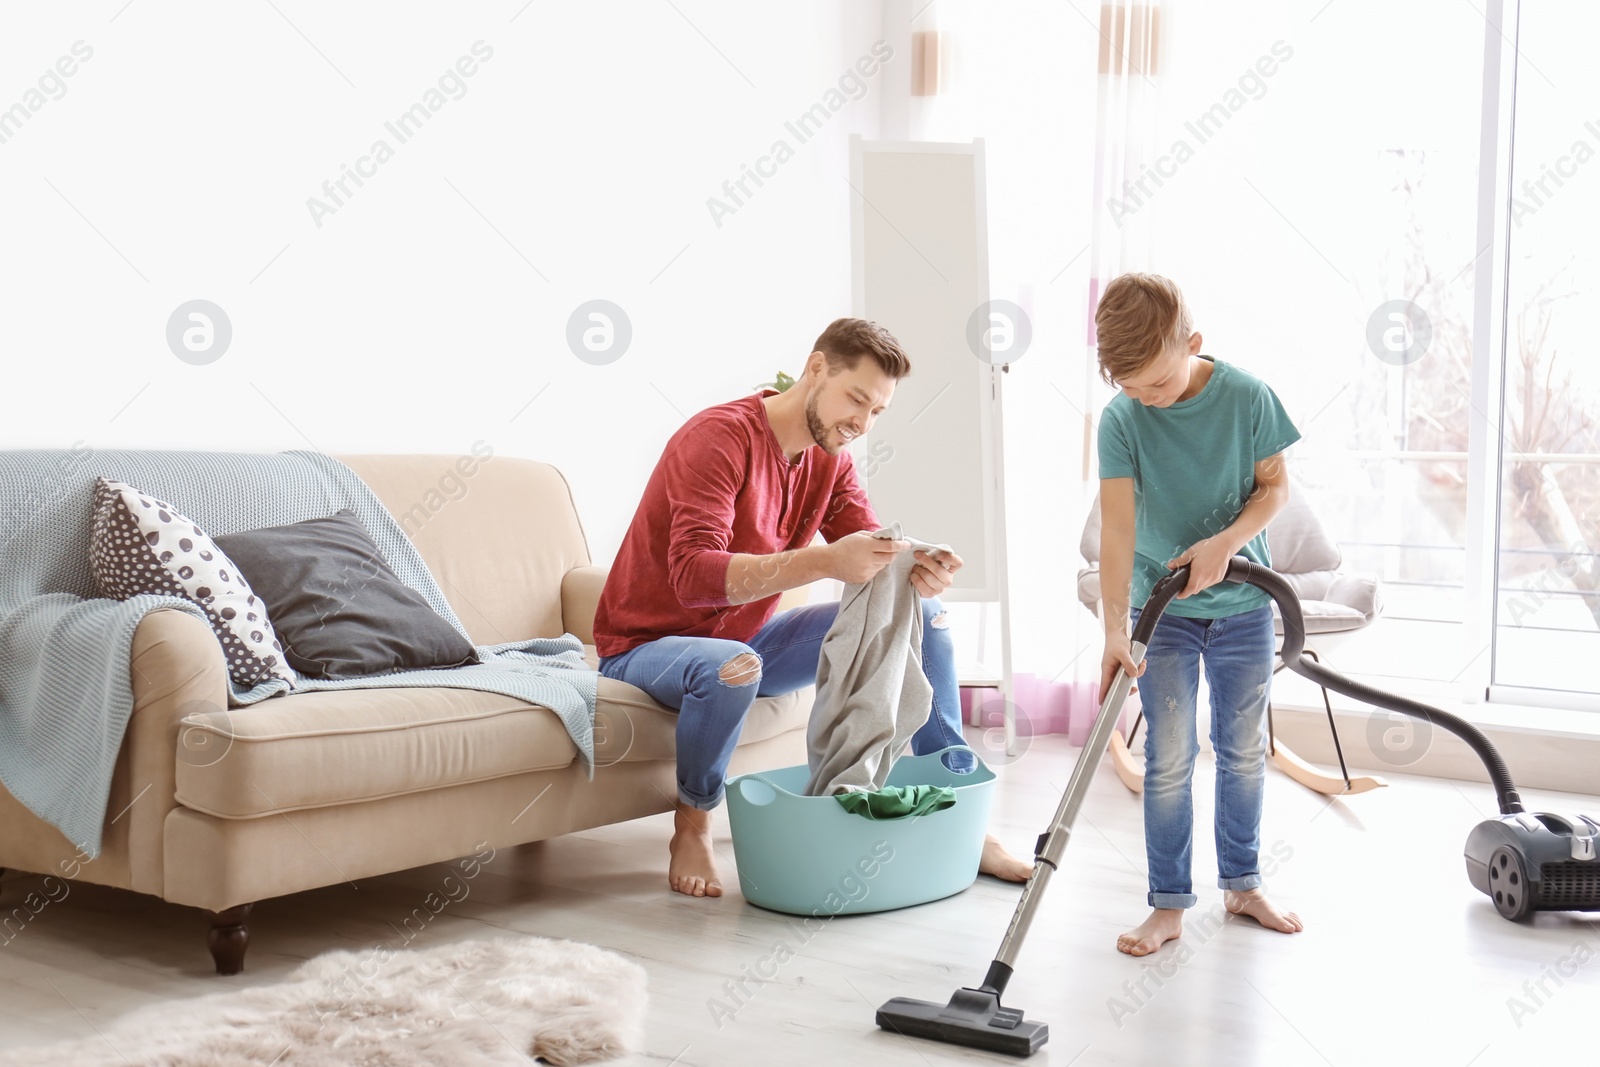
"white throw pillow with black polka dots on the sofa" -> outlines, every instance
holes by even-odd
[[[114,600],[158,593],[200,605],[235,685],[251,689],[270,678],[294,685],[267,606],[216,542],[171,504],[99,478],[90,569],[101,592]]]

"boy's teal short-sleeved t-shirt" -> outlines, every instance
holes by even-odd
[[[1168,560],[1234,525],[1256,488],[1256,461],[1301,437],[1264,381],[1211,362],[1210,381],[1189,400],[1147,408],[1118,392],[1101,416],[1099,477],[1133,478],[1133,608],[1142,606],[1150,587],[1170,573]],[[1242,555],[1270,566],[1266,531]],[[1173,600],[1166,614],[1221,619],[1269,600],[1254,585],[1218,582]]]

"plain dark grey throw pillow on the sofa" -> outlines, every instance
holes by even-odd
[[[267,601],[283,653],[302,675],[358,678],[478,662],[467,638],[389,568],[349,509],[216,542]]]

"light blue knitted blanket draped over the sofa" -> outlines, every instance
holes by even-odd
[[[112,769],[133,712],[133,632],[158,608],[205,619],[197,605],[176,597],[99,598],[90,573],[98,477],[168,501],[211,536],[347,507],[400,581],[466,637],[400,525],[355,472],[330,456],[88,448],[0,453],[0,784],[90,856],[99,854]],[[586,667],[578,638],[566,633],[486,645],[478,656],[482,664],[450,670],[301,678],[293,693],[448,686],[515,696],[554,710],[594,774],[597,675]],[[229,702],[256,704],[288,688],[283,678],[232,688]]]

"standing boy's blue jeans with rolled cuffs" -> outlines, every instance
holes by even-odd
[[[1134,621],[1139,613],[1134,609]],[[1267,701],[1275,638],[1272,608],[1221,619],[1163,614],[1139,678],[1144,707],[1144,851],[1150,907],[1194,907],[1194,779],[1200,742],[1195,704],[1200,661],[1211,688],[1216,750],[1218,888],[1261,885],[1261,792],[1266,781]]]

